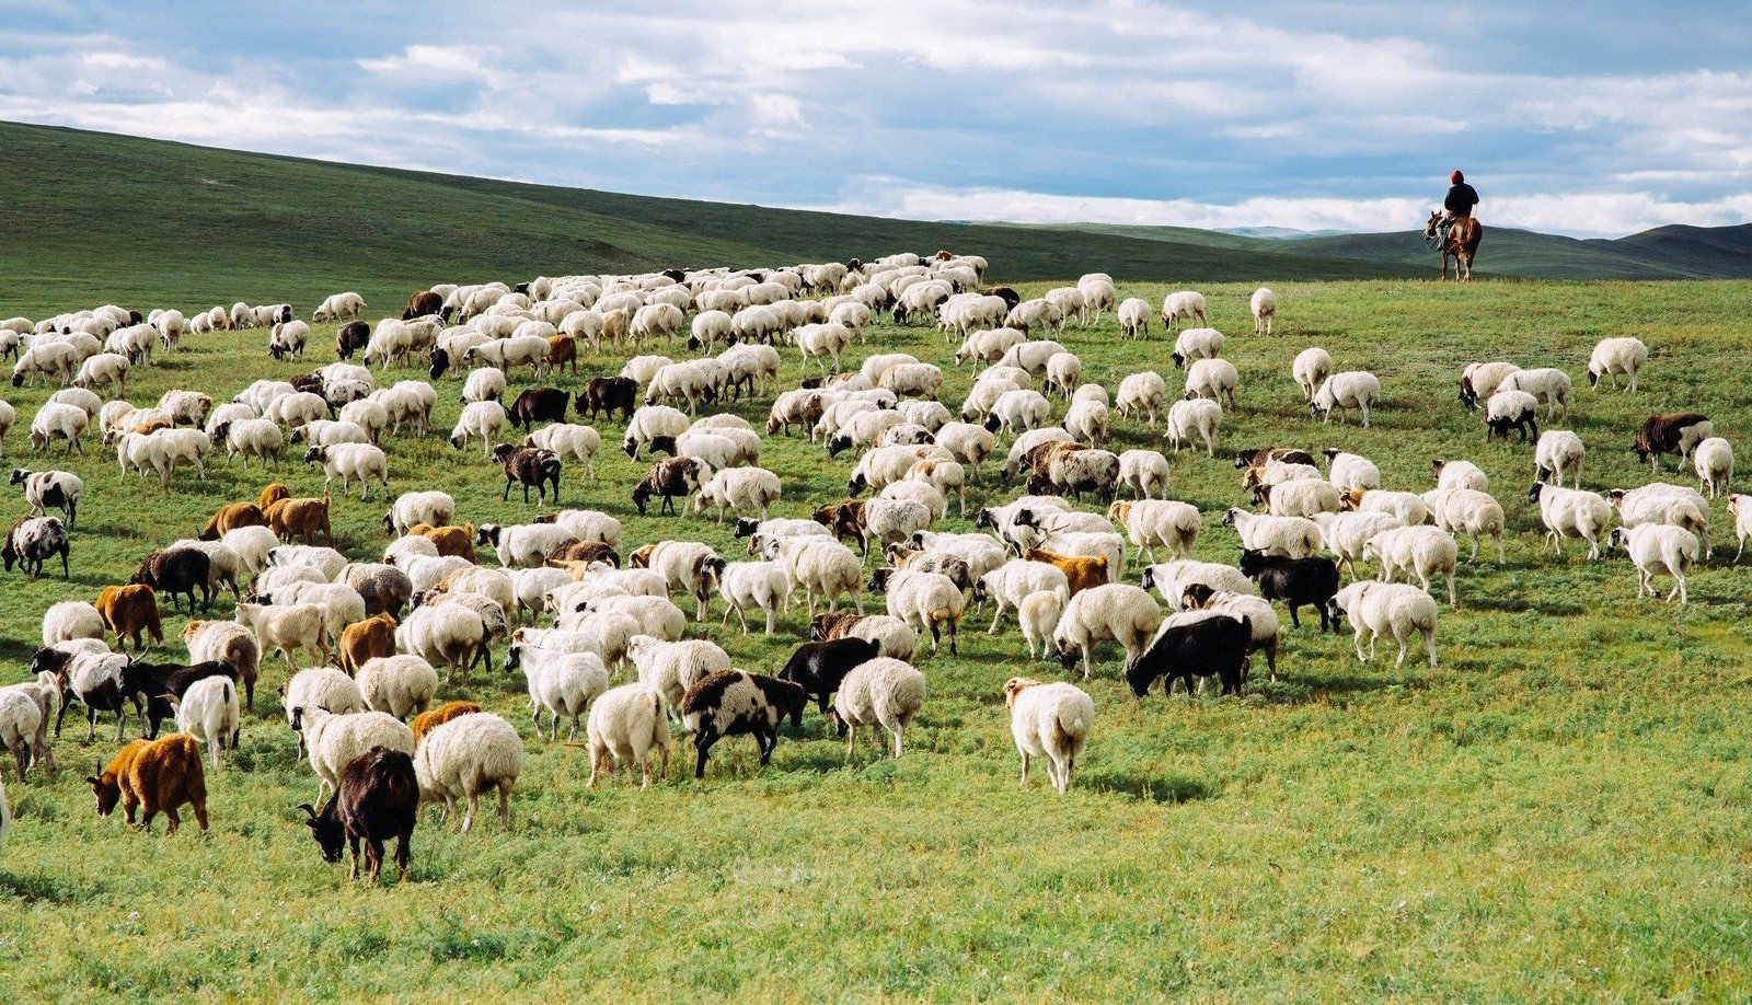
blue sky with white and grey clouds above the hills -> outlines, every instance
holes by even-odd
[[[1743,4],[0,0],[0,119],[909,219],[1752,219]],[[0,152],[4,159],[4,152]]]

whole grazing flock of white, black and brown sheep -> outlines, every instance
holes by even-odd
[[[226,464],[256,464],[265,480],[270,466],[298,457],[324,471],[321,497],[270,483],[259,497],[221,508],[200,532],[189,527],[186,539],[145,555],[128,583],[107,587],[96,602],[54,604],[33,678],[0,688],[0,742],[19,777],[37,765],[54,770],[51,720],[60,735],[68,707],[82,706],[91,741],[100,713],[114,713],[121,742],[131,709],[144,737],[86,779],[98,811],[119,804],[131,823],[144,809],[145,825],[165,812],[173,830],[179,807],[191,805],[205,830],[200,748],[212,767],[235,749],[258,678],[280,655],[291,671],[279,688],[286,721],[319,779],[315,802],[303,807],[307,823],[329,860],[352,844],[356,874],[363,842],[375,877],[385,840],[398,840],[405,874],[420,804],[442,802],[449,812],[466,802],[466,832],[477,800],[498,793],[508,821],[524,739],[473,702],[436,704],[447,683],[466,688],[473,667],[491,672],[494,646],[503,646],[506,671],[527,678],[538,735],[543,713],[550,741],[562,723],[568,739],[583,727],[592,786],[617,767],[636,767],[648,786],[653,762],[668,770],[676,728],[694,737],[696,776],[704,776],[713,744],[732,735],[752,735],[766,763],[783,723],[799,728],[811,700],[846,737],[848,758],[860,728],[887,732],[901,756],[927,702],[929,676],[915,665],[925,637],[930,655],[944,643],[958,651],[964,616],[985,604],[990,632],[1009,616],[1030,657],[1056,657],[1065,669],[1081,664],[1083,678],[1095,671],[1099,646],[1116,643],[1139,697],[1156,679],[1170,692],[1179,679],[1191,692],[1205,678],[1239,693],[1256,655],[1275,679],[1274,601],[1293,625],[1303,608],[1323,629],[1349,620],[1360,660],[1388,641],[1400,664],[1414,644],[1437,664],[1440,606],[1431,590],[1442,583],[1447,604],[1459,606],[1459,539],[1472,545],[1472,560],[1480,541],[1503,559],[1505,506],[1475,464],[1435,460],[1437,487],[1409,492],[1386,488],[1379,467],[1358,453],[1240,450],[1240,490],[1258,510],[1221,513],[1240,539],[1240,560],[1193,560],[1211,515],[1169,497],[1169,455],[1106,445],[1116,424],[1130,422],[1160,427],[1170,452],[1216,455],[1240,376],[1223,357],[1225,336],[1209,327],[1204,298],[1181,291],[1160,306],[1121,301],[1106,275],[1021,298],[985,285],[985,259],[939,252],[760,271],[540,277],[515,287],[443,284],[415,292],[399,319],[377,326],[363,320],[364,301],[345,292],[312,313],[317,324],[340,326],[335,362],[291,382],[170,390],[145,406],[126,399],[130,371],[175,354],[184,338],[265,329],[275,359],[298,359],[312,350],[310,324],[294,319],[291,305],[244,303],[194,317],[100,306],[0,320],[0,352],[16,359],[12,385],[60,387],[28,424],[37,455],[100,443],[124,476],[151,473],[166,487],[179,473],[205,478],[207,459],[221,450]],[[1272,291],[1256,291],[1249,310],[1253,333],[1272,336]],[[943,369],[911,354],[874,352],[857,369],[843,366],[848,350],[869,343],[878,312],[897,324],[936,324],[958,345],[955,366],[978,368],[958,404],[939,399]],[[1163,362],[1186,371],[1177,394],[1142,366],[1111,394],[1083,380],[1081,359],[1063,340],[1104,312],[1116,315],[1127,340],[1148,338],[1160,319],[1174,336]],[[645,354],[657,343],[671,354],[685,343],[687,352]],[[578,380],[585,350],[624,354],[624,368]],[[781,389],[790,350],[818,375]],[[1615,387],[1622,376],[1635,390],[1647,361],[1642,341],[1605,340],[1587,362],[1589,383]],[[384,383],[410,366],[424,378]],[[513,380],[559,382],[566,368],[569,387],[513,394]],[[1310,415],[1328,424],[1337,413],[1368,425],[1382,401],[1377,375],[1337,369],[1319,347],[1296,354],[1288,376]],[[459,383],[463,397],[449,443],[471,450],[478,441],[505,473],[501,499],[522,487],[527,502],[536,488],[536,502],[552,495],[555,511],[527,524],[475,525],[457,520],[466,506],[445,492],[391,492],[394,443],[433,434],[434,385],[445,382]],[[1542,408],[1547,422],[1568,415],[1570,390],[1558,368],[1486,361],[1459,375],[1459,401],[1482,410],[1487,436],[1537,439],[1528,502],[1549,543],[1561,550],[1565,539],[1586,541],[1591,559],[1603,546],[1624,548],[1638,597],[1668,576],[1668,599],[1684,602],[1699,546],[1708,557],[1710,501],[1733,476],[1731,446],[1703,415],[1652,415],[1636,431],[1636,450],[1656,469],[1666,453],[1691,457],[1701,492],[1659,481],[1586,492],[1580,438],[1538,431]],[[736,415],[710,413],[745,396],[771,396],[764,434]],[[0,401],[0,450],[14,418]],[[601,436],[585,418],[624,420],[622,450],[652,457],[636,485],[596,480]],[[811,501],[818,508],[809,520],[769,518],[787,494],[780,474],[760,466],[762,445],[774,436],[806,436],[827,459],[851,452],[848,497]],[[562,480],[589,481],[583,495],[624,497],[639,513],[652,501],[675,513],[682,501],[718,522],[734,517],[748,553],[731,560],[687,541],[685,529],[629,546],[613,515],[559,508]],[[392,541],[380,555],[359,543],[350,555],[336,550],[336,481],[342,499],[357,485],[361,501],[377,492],[389,506],[384,529]],[[971,488],[993,499],[1018,481],[1027,494],[979,508],[974,532],[937,529],[951,506],[967,517]],[[11,483],[30,515],[5,534],[7,571],[18,564],[32,576],[53,574],[60,559],[65,576],[77,555],[84,481],[21,467]],[[1100,511],[1077,508],[1081,501]],[[1743,546],[1752,497],[1729,495],[1727,510]],[[1128,559],[1142,564],[1137,585],[1127,581]],[[1361,576],[1361,562],[1377,564],[1379,576]],[[194,620],[196,604],[207,613],[224,592],[233,620]],[[881,595],[885,613],[865,613],[867,594]],[[130,657],[128,648],[163,643],[166,597],[177,609],[187,606],[187,660],[163,650],[154,657],[163,664]],[[778,672],[736,669],[717,643],[687,637],[690,616],[710,622],[715,599],[724,622],[736,615],[743,634],[776,634],[801,606],[811,637]],[[627,683],[615,685],[622,672]],[[1072,683],[1027,678],[993,681],[993,690],[1011,711],[1023,783],[1030,760],[1046,758],[1063,793],[1093,727],[1093,699]],[[158,737],[163,720],[179,732]],[[0,790],[0,828],[7,819]]]

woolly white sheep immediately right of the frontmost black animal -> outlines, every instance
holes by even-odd
[[[443,802],[443,816],[449,818],[456,800],[468,800],[463,833],[475,825],[480,797],[494,790],[499,793],[499,823],[512,826],[512,788],[522,770],[522,737],[512,723],[492,713],[457,716],[420,737],[420,746],[413,751],[420,802]]]

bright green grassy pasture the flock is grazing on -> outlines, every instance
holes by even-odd
[[[1167,289],[1123,284],[1121,296]],[[1275,685],[1261,674],[1240,700],[1158,692],[1135,702],[1118,653],[1104,650],[1088,683],[1093,741],[1065,798],[1044,777],[1018,788],[999,690],[1016,672],[1060,672],[1028,667],[1014,629],[986,636],[978,616],[967,618],[960,658],[920,657],[930,697],[901,762],[862,746],[846,763],[811,713],[764,770],[738,739],[696,783],[680,746],[652,791],[625,779],[587,791],[583,751],[531,734],[520,678],[477,676],[442,697],[480,700],[526,734],[510,833],[491,814],[468,837],[426,816],[412,882],[368,889],[319,860],[294,811],[315,783],[294,758],[273,697],[286,667],[273,664],[237,760],[208,777],[207,837],[147,837],[98,819],[79,777],[114,742],[100,727],[86,744],[77,711],[56,744],[58,777],[7,777],[18,825],[0,860],[0,984],[21,998],[349,1000],[1752,993],[1752,748],[1741,728],[1752,646],[1740,629],[1745,573],[1722,548],[1724,510],[1713,510],[1719,550],[1696,571],[1691,606],[1638,602],[1622,557],[1586,562],[1573,543],[1561,559],[1540,553],[1524,499],[1529,448],[1486,445],[1480,420],[1454,403],[1454,375],[1470,359],[1563,366],[1579,385],[1568,425],[1589,446],[1587,485],[1647,481],[1628,452],[1647,411],[1696,406],[1729,438],[1747,429],[1729,354],[1752,287],[1277,284],[1274,340],[1244,334],[1253,284],[1202,289],[1242,373],[1223,446],[1342,445],[1407,488],[1428,485],[1438,455],[1470,457],[1491,474],[1514,529],[1508,562],[1465,566],[1465,608],[1442,611],[1438,669],[1360,665],[1347,634],[1286,623]],[[19,306],[26,313],[70,306],[30,284],[14,291],[33,298]],[[228,397],[251,378],[333,359],[331,331],[319,327],[310,359],[284,364],[266,357],[261,331],[191,338],[137,371],[131,399],[170,387]],[[1656,350],[1635,397],[1582,382],[1589,347],[1608,334],[1638,334]],[[1063,341],[1088,380],[1113,387],[1155,368],[1179,383],[1160,333],[1123,343],[1109,317]],[[1307,417],[1288,376],[1307,345],[1382,375],[1374,429]],[[951,347],[930,331],[881,326],[855,359],[897,348],[944,364],[944,399],[960,401],[971,373],[950,366]],[[795,352],[785,357],[794,385]],[[590,375],[615,368],[618,359],[587,361]],[[385,380],[401,376],[415,373]],[[442,385],[445,429],[457,387]],[[21,413],[7,438],[14,460],[44,396],[7,389]],[[736,411],[759,420],[764,404]],[[618,441],[620,424],[597,427],[604,446]],[[1158,434],[1118,424],[1116,448],[1146,443]],[[499,474],[478,453],[436,438],[387,446],[394,490],[445,488],[461,518],[541,510],[501,504]],[[820,446],[781,438],[767,439],[764,462],[785,480],[787,517],[837,497],[851,469],[848,455],[827,460]],[[300,466],[273,476],[221,460],[205,483],[179,473],[170,494],[121,481],[96,448],[68,466],[88,480],[75,576],[11,574],[0,585],[7,681],[25,676],[51,602],[124,580],[145,550],[198,531],[212,508],[252,497],[270,478],[300,494],[321,488],[319,473]],[[599,483],[568,471],[566,504],[618,515],[627,548],[685,536],[738,550],[725,527],[699,517],[638,518],[625,494],[641,467],[610,446]],[[985,485],[974,495],[1016,492]],[[1216,525],[1216,511],[1242,499],[1225,455],[1183,453],[1172,494],[1209,515],[1198,555],[1233,560],[1233,532]],[[349,555],[378,553],[384,506],[354,499],[338,510]],[[0,517],[21,511],[9,492]],[[221,602],[219,616],[228,611]],[[172,634],[179,627],[166,622]],[[755,671],[774,671],[802,630],[801,613],[771,641],[703,629]]]

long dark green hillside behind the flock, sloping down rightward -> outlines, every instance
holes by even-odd
[[[760,266],[941,247],[992,278],[1090,270],[1225,282],[1412,275],[1316,261],[1282,242],[1195,242],[1074,228],[943,224],[627,196],[215,151],[0,123],[0,270],[35,305],[308,301],[375,305],[434,280],[561,271]],[[1191,231],[1197,233],[1197,231]],[[1216,235],[1226,236],[1226,235]]]

